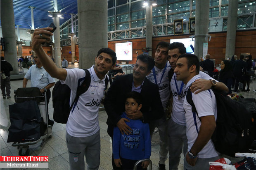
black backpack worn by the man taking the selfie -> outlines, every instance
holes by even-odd
[[[85,79],[83,80],[83,83],[81,86],[78,87],[76,91],[76,97],[69,106],[70,101],[70,93],[71,90],[68,85],[60,83],[60,80],[55,83],[55,86],[52,90],[52,106],[53,106],[53,119],[57,123],[63,123],[66,124],[69,118],[69,113],[71,111],[71,108],[73,107],[74,103],[78,101],[78,98],[81,94],[86,92],[90,86],[91,82],[91,76],[88,69],[84,69],[85,71]],[[107,89],[107,85],[109,83],[109,79],[105,78],[105,86]]]

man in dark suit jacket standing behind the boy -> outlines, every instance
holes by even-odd
[[[136,91],[142,94],[142,108],[130,117],[131,119],[142,119],[143,122],[149,123],[152,120],[164,116],[164,109],[161,103],[158,87],[150,82],[147,78],[151,69],[154,67],[154,59],[146,54],[137,57],[136,64],[133,68],[133,74],[117,76],[107,91],[104,107],[108,115],[107,132],[113,138],[114,126],[118,126],[121,133],[130,133],[131,128],[126,124],[128,119],[121,118],[125,110],[125,96],[128,92]],[[118,169],[115,164],[114,169]]]

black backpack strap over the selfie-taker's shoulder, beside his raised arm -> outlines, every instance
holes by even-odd
[[[83,80],[83,83],[76,90],[76,97],[69,108],[69,112],[71,111],[74,103],[77,103],[79,96],[84,92],[86,92],[90,86],[90,82],[91,82],[90,72],[88,71],[88,69],[83,69],[83,70],[85,71],[85,79]]]

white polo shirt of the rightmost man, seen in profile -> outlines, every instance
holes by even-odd
[[[188,83],[187,87],[189,87],[194,80],[201,78],[200,75],[194,76]],[[192,100],[196,107],[198,116],[196,113],[192,113],[192,107],[187,102],[187,99],[184,100],[184,110],[185,110],[185,118],[186,118],[186,126],[187,126],[187,150],[190,151],[194,142],[198,137],[198,133],[200,131],[201,122],[198,117],[213,115],[215,117],[215,121],[217,119],[217,105],[216,99],[213,91],[211,89],[202,91],[198,94],[192,93]],[[207,142],[204,148],[197,154],[198,158],[212,158],[218,156],[219,153],[215,150],[213,142],[211,139]]]

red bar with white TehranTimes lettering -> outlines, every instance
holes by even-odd
[[[1,162],[48,162],[48,156],[0,156]]]

